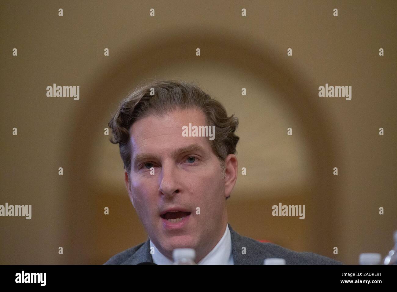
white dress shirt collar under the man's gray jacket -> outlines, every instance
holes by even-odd
[[[154,248],[152,254],[153,263],[157,265],[172,265],[167,257],[165,257],[156,246],[154,246],[152,240],[150,240],[150,247]],[[233,254],[231,252],[231,237],[229,226],[226,224],[226,230],[218,244],[205,256],[197,265],[233,265]]]

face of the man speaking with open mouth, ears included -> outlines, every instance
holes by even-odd
[[[225,197],[237,178],[237,159],[227,157],[224,177],[209,137],[182,136],[182,127],[189,123],[207,125],[200,110],[174,110],[137,120],[130,129],[131,173],[128,181],[125,172],[125,182],[159,251],[171,258],[175,248],[194,248],[199,260],[225,232]],[[170,209],[188,213],[164,214]],[[169,220],[175,217],[185,218]]]

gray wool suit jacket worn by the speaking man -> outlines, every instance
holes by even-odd
[[[283,258],[287,265],[342,265],[329,257],[311,252],[297,252],[283,248],[277,244],[262,243],[235,232],[229,223],[231,234],[231,248],[235,265],[263,265],[266,258]],[[242,253],[245,247],[246,253]],[[111,257],[104,265],[137,265],[143,262],[153,262],[150,254],[150,240],[126,249]]]

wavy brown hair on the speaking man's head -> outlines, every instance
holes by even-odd
[[[216,135],[210,140],[212,150],[221,162],[223,175],[225,158],[236,153],[239,137],[235,130],[239,124],[238,118],[232,114],[227,116],[224,106],[212,99],[195,83],[176,80],[155,80],[145,85],[139,85],[127,94],[118,110],[112,115],[108,126],[113,137],[110,142],[120,147],[124,169],[131,172],[131,149],[129,129],[138,119],[152,114],[164,114],[175,109],[200,109],[206,116],[206,123],[215,126]]]

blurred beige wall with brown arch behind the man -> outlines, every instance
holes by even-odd
[[[227,201],[237,232],[349,264],[385,255],[397,229],[396,6],[1,2],[0,205],[32,205],[32,219],[0,217],[0,263],[100,264],[146,239],[103,129],[148,78],[196,81],[240,119],[247,175]],[[79,85],[79,101],[46,97],[53,83]],[[351,101],[318,97],[325,83],[351,85]],[[306,219],[273,217],[279,202],[306,205]]]

